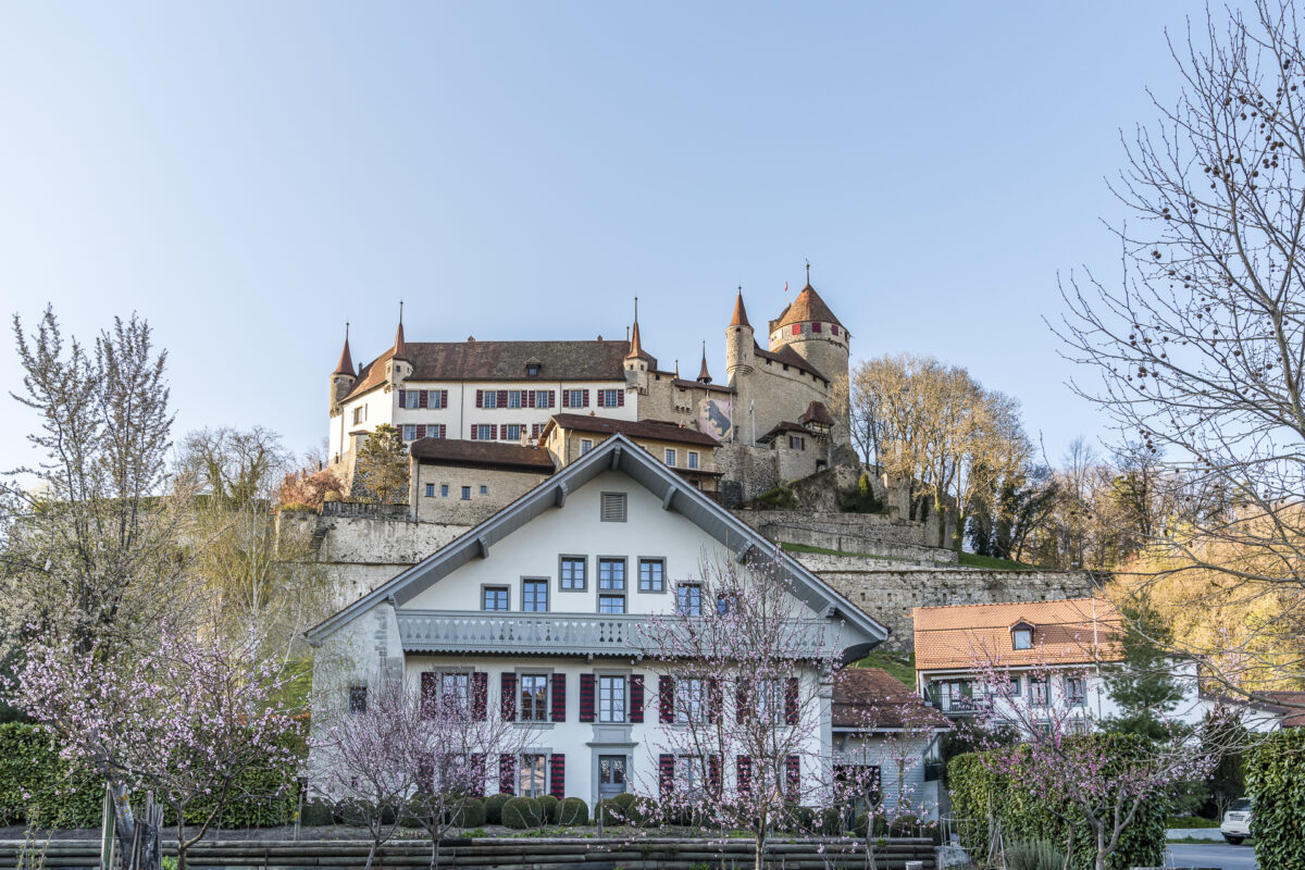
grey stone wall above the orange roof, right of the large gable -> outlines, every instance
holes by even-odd
[[[886,567],[876,560],[795,553],[852,604],[889,627],[889,650],[915,644],[917,607],[1052,601],[1091,595],[1088,571],[989,571],[958,567]]]

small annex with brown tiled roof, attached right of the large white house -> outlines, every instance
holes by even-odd
[[[946,716],[881,668],[843,668],[834,678],[834,776],[877,780],[889,818],[937,818],[937,766],[929,760],[947,730]]]

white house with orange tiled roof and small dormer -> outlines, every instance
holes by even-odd
[[[1118,610],[1105,599],[915,608],[916,686],[951,719],[1009,719],[1011,704],[1069,713],[1073,727],[1120,715],[1109,697],[1111,665],[1124,659]],[[983,663],[1009,673],[1007,695],[981,678]],[[1176,667],[1184,699],[1171,712],[1195,724],[1210,706],[1199,698],[1191,665]],[[1002,710],[1006,710],[1006,716]],[[1026,713],[1027,717],[1027,713]]]

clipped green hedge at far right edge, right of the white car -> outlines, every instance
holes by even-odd
[[[1259,869],[1305,867],[1305,729],[1280,730],[1250,751],[1246,793]]]

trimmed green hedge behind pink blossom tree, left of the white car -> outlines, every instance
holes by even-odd
[[[1146,741],[1133,734],[1091,734],[1071,740],[1107,741],[1109,757],[1118,760],[1146,751]],[[1045,798],[1023,784],[1018,768],[1011,775],[998,775],[988,770],[983,755],[990,754],[967,753],[953,758],[947,764],[949,792],[953,814],[958,820],[960,845],[975,860],[987,857],[990,814],[997,819],[1006,843],[1047,840],[1064,849],[1064,823],[1051,813]],[[1113,798],[1113,794],[1109,797]],[[1138,807],[1133,823],[1120,835],[1120,845],[1111,856],[1111,870],[1160,866],[1164,862],[1167,815],[1168,801],[1164,796],[1144,801]],[[1075,827],[1070,867],[1092,870],[1095,861],[1095,839],[1084,820]]]

